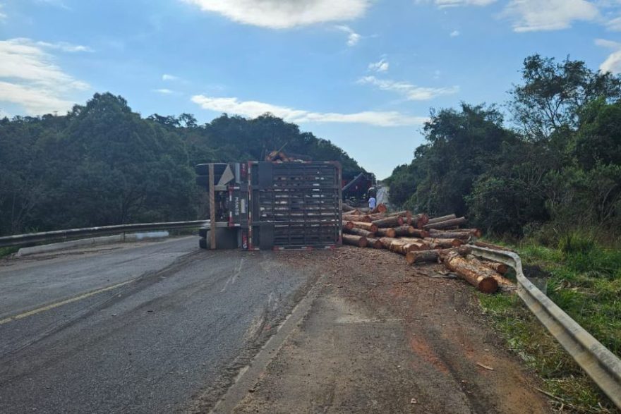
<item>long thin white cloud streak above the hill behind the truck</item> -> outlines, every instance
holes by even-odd
[[[424,116],[408,116],[397,111],[363,111],[354,114],[339,114],[334,112],[311,112],[301,109],[292,109],[287,106],[277,106],[257,101],[239,101],[235,97],[216,98],[205,95],[195,95],[192,102],[201,108],[227,114],[237,114],[255,118],[267,112],[279,116],[290,122],[332,122],[332,123],[366,123],[373,126],[414,126],[421,125],[428,118]]]

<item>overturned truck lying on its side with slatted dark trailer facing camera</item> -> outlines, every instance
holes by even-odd
[[[342,243],[339,162],[199,164],[196,183],[210,193],[201,248],[284,250]]]

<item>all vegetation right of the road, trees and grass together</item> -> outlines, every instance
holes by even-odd
[[[521,75],[506,111],[433,110],[426,143],[387,179],[391,201],[464,215],[505,241],[526,272],[549,274],[560,308],[621,356],[621,76],[538,55]],[[517,296],[480,300],[559,407],[617,412]]]

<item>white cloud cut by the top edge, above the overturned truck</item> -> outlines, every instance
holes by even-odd
[[[361,17],[370,0],[182,0],[246,25],[288,29]]]

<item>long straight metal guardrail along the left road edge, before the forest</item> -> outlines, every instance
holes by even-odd
[[[209,223],[209,220],[169,221],[164,223],[119,224],[117,226],[86,227],[84,229],[69,229],[44,231],[42,233],[16,234],[0,237],[0,248],[19,246],[30,243],[63,241],[80,236],[105,236],[109,234],[128,233],[130,231],[155,231],[172,229],[193,229]]]

